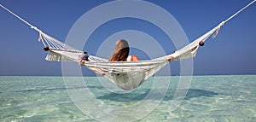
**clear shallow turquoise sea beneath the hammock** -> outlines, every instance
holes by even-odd
[[[97,77],[84,77],[80,86],[68,79],[74,85],[62,77],[0,77],[0,121],[256,121],[256,75],[192,76],[184,98],[175,96],[178,76],[149,78],[122,93],[106,89]],[[165,96],[148,99],[152,85],[165,80]],[[73,102],[73,91],[79,101]]]

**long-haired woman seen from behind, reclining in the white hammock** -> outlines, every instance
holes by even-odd
[[[116,42],[113,55],[109,58],[109,61],[139,61],[136,55],[129,55],[130,47],[125,39],[120,39]],[[168,56],[167,61],[172,61],[173,57]],[[80,65],[84,63],[85,60],[80,60]]]

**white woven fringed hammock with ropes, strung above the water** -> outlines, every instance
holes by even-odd
[[[244,8],[236,12],[236,14],[230,16],[227,20],[222,21],[218,26],[215,26],[209,32],[203,34],[200,38],[195,39],[192,43],[186,45],[182,49],[178,49],[171,55],[166,55],[159,57],[153,60],[148,61],[108,61],[100,57],[90,55],[88,57],[89,61],[85,61],[83,66],[88,67],[90,70],[95,73],[100,73],[104,77],[108,78],[113,84],[119,86],[123,90],[132,90],[136,89],[140,84],[143,84],[148,78],[157,73],[162,67],[165,67],[169,61],[166,61],[167,56],[172,56],[174,59],[172,61],[180,61],[184,59],[189,59],[195,57],[197,50],[199,49],[199,43],[205,42],[207,38],[212,35],[212,38],[215,38],[219,32],[221,26],[224,26],[224,23],[238,15],[243,9],[246,9],[248,6],[253,4],[253,2],[247,4]],[[7,10],[10,14],[15,15],[9,9],[3,7],[0,4],[0,7]],[[39,32],[39,41],[41,41],[45,47],[49,47],[49,54],[46,56],[47,61],[77,61],[84,54],[83,51],[75,49],[67,44],[61,43],[55,38],[50,37],[45,34],[37,27],[32,26],[26,20],[20,18],[20,16],[15,15],[18,19],[25,22],[28,26],[31,26],[32,29]],[[214,34],[213,34],[214,33]]]

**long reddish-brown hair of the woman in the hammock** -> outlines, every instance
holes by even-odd
[[[128,42],[125,39],[120,39],[116,42],[113,55],[111,55],[109,61],[126,61],[129,51]]]

